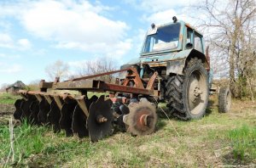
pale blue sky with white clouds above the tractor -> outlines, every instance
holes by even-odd
[[[139,57],[152,23],[191,25],[193,0],[1,0],[0,86],[49,77],[56,60],[75,72],[86,60],[111,58],[119,66]]]

